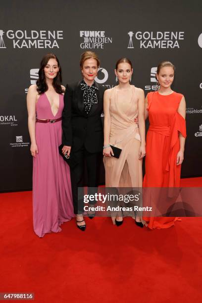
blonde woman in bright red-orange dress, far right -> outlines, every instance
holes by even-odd
[[[143,187],[151,188],[146,198],[150,196],[149,203],[153,206],[156,206],[158,201],[155,199],[158,190],[153,188],[180,186],[186,138],[186,103],[182,94],[171,90],[174,70],[175,67],[171,62],[160,63],[156,73],[160,89],[149,93],[146,97],[145,118],[149,116],[150,127],[146,140],[146,174]],[[153,194],[149,194],[149,191]],[[147,217],[145,220],[149,222],[149,228],[160,229],[174,225],[179,218]]]

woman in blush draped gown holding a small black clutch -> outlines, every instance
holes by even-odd
[[[132,63],[121,58],[115,74],[119,85],[104,93],[104,147],[105,186],[142,187],[142,159],[145,156],[145,95],[130,84]],[[139,127],[135,122],[139,116]],[[122,149],[120,157],[113,157],[110,145]],[[126,205],[125,205],[126,206]],[[134,215],[134,212],[133,212]],[[143,227],[141,213],[136,213],[136,224]],[[113,224],[123,222],[121,211],[112,214]]]

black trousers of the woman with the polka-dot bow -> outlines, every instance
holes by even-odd
[[[85,160],[87,163],[88,187],[96,188],[98,170],[97,159],[100,152],[88,152],[83,146],[81,149],[73,153],[78,163],[73,169],[70,169],[74,213],[82,214],[84,212],[84,194],[83,190],[79,190],[78,199],[78,187],[83,187]],[[95,190],[92,191],[88,189],[88,194],[94,194],[94,192]],[[95,202],[93,201],[91,204],[95,204]]]

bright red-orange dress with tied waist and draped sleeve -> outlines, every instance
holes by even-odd
[[[146,140],[146,174],[143,187],[179,187],[181,165],[176,165],[180,150],[179,132],[186,138],[185,119],[177,112],[183,95],[148,94],[150,127]],[[168,228],[174,217],[150,217],[149,228]]]

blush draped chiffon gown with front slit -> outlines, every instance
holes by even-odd
[[[135,122],[138,115],[137,88],[131,85],[127,89],[120,90],[114,87],[110,90],[109,142],[122,151],[118,159],[115,157],[103,158],[105,187],[142,188],[142,160],[139,159],[141,138]],[[115,224],[116,215],[116,212],[111,213],[113,224]],[[134,216],[134,212],[130,215]],[[141,216],[142,213],[138,213],[138,215]]]

